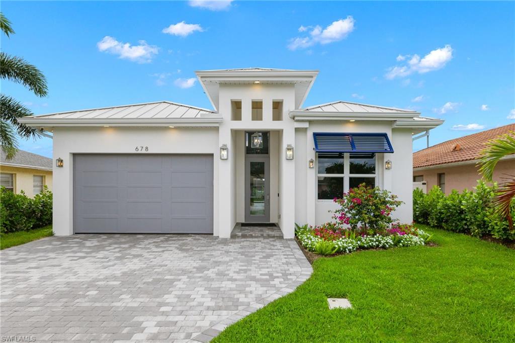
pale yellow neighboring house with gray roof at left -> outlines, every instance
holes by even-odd
[[[52,159],[18,150],[11,160],[5,159],[2,151],[0,160],[0,185],[7,190],[33,197],[47,186],[52,191]]]

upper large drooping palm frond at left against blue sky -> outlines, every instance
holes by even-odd
[[[37,96],[48,94],[43,73],[23,58],[0,53],[0,77],[23,84]]]

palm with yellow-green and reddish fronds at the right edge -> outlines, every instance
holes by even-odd
[[[495,165],[503,157],[515,153],[515,132],[511,131],[501,138],[488,142],[487,148],[481,152],[479,171],[487,181],[492,181]],[[500,185],[497,190],[494,203],[499,206],[497,209],[508,219],[510,229],[513,229],[513,218],[511,217],[511,203],[515,198],[515,175],[508,175],[508,181]]]

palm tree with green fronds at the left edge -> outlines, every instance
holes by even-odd
[[[9,37],[14,30],[11,22],[0,12],[0,30]],[[0,52],[0,78],[21,83],[40,97],[47,95],[46,78],[41,71],[23,58]],[[16,134],[23,139],[39,137],[38,130],[21,124],[19,117],[32,115],[32,112],[14,98],[0,94],[0,141],[7,159],[12,159],[18,150]]]

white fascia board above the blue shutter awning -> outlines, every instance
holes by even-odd
[[[355,119],[359,121],[397,121],[398,119],[413,118],[414,113],[291,111],[289,116],[295,121],[331,121],[342,119]]]

